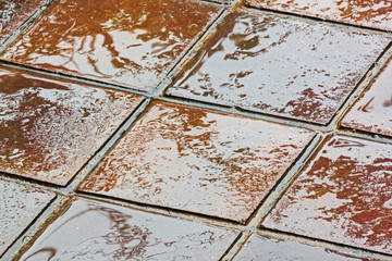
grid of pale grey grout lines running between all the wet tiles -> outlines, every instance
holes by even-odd
[[[28,18],[20,27],[20,29],[17,29],[9,39],[7,39],[4,41],[4,44],[0,47],[0,53],[2,53],[17,37],[20,37],[22,35],[22,33],[36,18],[38,18],[38,16],[53,1],[56,1],[56,0],[48,0],[47,3],[45,3],[30,18]],[[208,2],[217,3],[213,0],[208,1]],[[164,90],[170,86],[170,84],[172,83],[174,77],[177,76],[185,69],[185,66],[188,65],[188,63],[196,57],[197,52],[200,49],[203,49],[203,47],[206,45],[206,42],[208,40],[210,40],[210,38],[217,33],[218,28],[224,23],[225,18],[235,10],[238,10],[238,9],[245,10],[245,11],[247,10],[247,9],[244,9],[244,7],[243,7],[244,2],[245,2],[244,0],[234,0],[230,3],[221,3],[221,2],[219,3],[218,2],[218,4],[220,4],[221,7],[229,8],[229,9],[223,9],[223,11],[218,15],[217,20],[211,23],[209,28],[200,36],[199,39],[197,39],[195,41],[194,46],[192,46],[188,49],[188,51],[180,59],[180,61],[174,65],[174,67],[169,72],[169,74],[166,76],[166,78],[159,84],[159,86],[151,94],[135,90],[135,89],[130,89],[126,87],[117,86],[117,85],[112,85],[112,84],[107,84],[107,83],[102,83],[102,82],[98,82],[98,80],[94,80],[94,79],[88,79],[88,78],[84,78],[84,77],[77,77],[77,76],[71,76],[71,75],[65,75],[65,74],[59,74],[59,73],[54,73],[54,72],[48,72],[48,71],[44,71],[44,70],[39,70],[39,69],[28,67],[25,65],[13,64],[10,62],[4,62],[4,61],[0,62],[0,65],[2,65],[4,67],[23,70],[23,71],[27,71],[27,72],[32,72],[32,73],[37,73],[37,74],[40,74],[44,76],[53,77],[57,79],[60,78],[63,80],[72,80],[72,82],[77,82],[77,83],[82,83],[82,84],[88,84],[88,85],[94,85],[94,86],[98,86],[98,87],[111,88],[111,89],[122,90],[122,91],[126,91],[126,92],[131,92],[131,94],[143,95],[143,96],[147,97],[147,99],[145,99],[140,103],[140,105],[134,112],[131,113],[128,119],[120,126],[120,128],[113,134],[113,136],[109,140],[107,140],[107,142],[101,147],[101,149],[87,162],[87,164],[78,172],[77,175],[75,175],[75,177],[71,181],[71,183],[65,188],[48,187],[47,185],[41,185],[40,183],[39,184],[32,183],[32,182],[29,182],[29,179],[27,179],[27,181],[20,179],[20,177],[13,177],[13,176],[10,176],[10,177],[4,176],[3,177],[2,175],[0,175],[0,179],[2,179],[2,181],[12,181],[12,182],[16,181],[16,183],[20,183],[20,184],[25,184],[28,186],[36,186],[36,187],[39,187],[39,188],[42,188],[42,189],[46,189],[49,191],[54,191],[58,194],[58,197],[44,210],[44,212],[40,215],[37,216],[36,221],[33,223],[33,225],[28,226],[28,228],[26,228],[25,233],[23,233],[23,235],[14,244],[12,244],[10,246],[10,248],[4,252],[1,260],[12,260],[14,254],[16,254],[17,251],[23,249],[23,247],[26,245],[26,241],[23,243],[23,239],[26,236],[29,237],[32,235],[36,235],[40,229],[44,229],[46,227],[45,223],[53,216],[53,213],[59,211],[59,209],[69,199],[68,196],[78,195],[76,190],[77,190],[77,187],[81,185],[81,183],[99,164],[99,162],[105,158],[105,156],[110,151],[110,149],[113,146],[115,146],[115,144],[120,140],[122,135],[126,130],[128,130],[132,127],[132,125],[137,121],[137,119],[147,110],[148,105],[150,104],[150,101],[154,99],[159,99],[159,100],[174,102],[174,103],[184,104],[184,105],[199,107],[203,109],[213,110],[213,111],[229,113],[229,114],[235,114],[238,116],[246,116],[246,117],[264,120],[264,121],[273,122],[273,123],[278,123],[278,124],[308,128],[308,129],[313,129],[313,130],[317,132],[317,135],[310,141],[310,144],[305,149],[303,154],[299,156],[299,158],[291,166],[289,172],[283,176],[283,179],[281,179],[281,182],[279,182],[275,185],[275,187],[271,190],[271,192],[265,198],[265,200],[260,204],[259,209],[256,211],[256,214],[248,221],[248,224],[246,226],[241,225],[241,224],[233,224],[233,223],[230,223],[226,221],[213,219],[210,216],[205,216],[201,214],[199,215],[199,214],[186,213],[186,212],[183,212],[182,210],[170,210],[168,208],[157,208],[157,207],[151,207],[151,206],[147,206],[147,204],[123,202],[120,199],[108,199],[108,198],[102,198],[102,197],[96,196],[96,195],[81,194],[81,195],[83,195],[83,197],[87,197],[87,198],[91,198],[91,199],[100,200],[100,201],[106,201],[106,202],[110,202],[110,203],[115,203],[115,204],[120,204],[120,206],[124,206],[124,207],[130,207],[130,208],[134,208],[134,209],[142,210],[142,211],[148,211],[151,213],[170,215],[173,217],[184,219],[184,220],[194,221],[194,222],[201,222],[201,223],[211,224],[211,225],[218,225],[221,227],[226,227],[226,228],[232,228],[232,229],[237,229],[237,231],[243,232],[242,236],[237,239],[237,241],[233,243],[233,246],[230,249],[228,249],[228,252],[222,257],[222,260],[231,260],[240,251],[240,249],[246,243],[246,240],[252,235],[252,233],[257,233],[260,235],[267,235],[267,236],[281,238],[281,239],[295,240],[295,241],[299,241],[299,243],[305,243],[307,245],[322,246],[322,247],[330,248],[330,249],[336,249],[339,251],[342,251],[342,249],[343,249],[344,251],[348,251],[348,252],[355,253],[360,257],[366,257],[366,258],[379,258],[379,259],[384,258],[385,259],[387,256],[381,254],[381,253],[380,253],[381,254],[380,256],[379,253],[375,253],[375,252],[367,251],[367,250],[362,250],[362,249],[355,248],[355,247],[346,247],[346,246],[341,246],[339,244],[326,243],[322,240],[310,239],[310,238],[305,238],[305,237],[301,237],[301,236],[283,234],[283,233],[279,233],[279,232],[260,231],[258,228],[258,226],[262,222],[262,219],[274,207],[274,204],[278,202],[278,200],[284,194],[284,191],[290,187],[293,179],[298,175],[301,170],[305,166],[306,162],[309,161],[309,159],[313,157],[314,152],[320,148],[320,145],[327,139],[327,137],[329,137],[329,135],[331,135],[331,133],[345,134],[348,136],[366,138],[366,139],[376,140],[379,142],[392,144],[392,138],[390,138],[390,137],[380,137],[380,136],[373,135],[373,134],[355,133],[355,132],[350,132],[347,129],[339,128],[339,123],[340,123],[341,119],[350,110],[350,108],[354,104],[354,102],[358,99],[359,95],[368,87],[369,83],[381,71],[382,66],[385,64],[388,59],[391,58],[391,55],[392,55],[392,47],[391,46],[387,49],[387,51],[384,53],[382,53],[380,55],[380,58],[376,62],[376,65],[372,69],[370,69],[370,71],[365,76],[365,78],[354,89],[354,91],[348,96],[348,98],[346,99],[346,101],[344,102],[342,108],[335,113],[334,117],[332,119],[330,124],[328,124],[328,126],[322,126],[322,125],[318,125],[318,124],[314,124],[314,123],[301,122],[298,120],[279,117],[279,116],[274,116],[274,115],[270,115],[270,114],[243,111],[243,110],[238,110],[234,107],[228,108],[228,107],[223,107],[223,105],[219,105],[219,104],[204,103],[204,102],[195,101],[195,100],[184,100],[184,99],[174,99],[174,98],[170,98],[170,97],[164,97]],[[334,24],[336,26],[356,27],[356,28],[359,28],[363,30],[371,32],[372,34],[375,34],[375,33],[387,34],[383,30],[379,30],[379,29],[373,29],[373,28],[368,28],[368,27],[363,27],[363,26],[355,26],[355,25],[346,25],[346,24],[342,24],[339,22],[324,21],[324,20],[308,17],[308,16],[304,17],[304,16],[293,14],[293,13],[282,13],[279,11],[271,11],[271,10],[264,10],[264,9],[260,10],[260,9],[255,9],[255,8],[250,8],[248,11],[257,11],[259,13],[261,12],[261,13],[281,14],[281,15],[285,15],[285,16],[302,18],[305,21],[309,21],[309,20],[313,20],[316,22],[322,21],[322,23],[330,23],[330,24]],[[389,35],[391,35],[391,34],[389,34]]]

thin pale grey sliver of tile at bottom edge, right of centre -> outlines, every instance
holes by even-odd
[[[297,241],[281,240],[252,235],[233,261],[290,260],[290,261],[370,261],[339,252],[332,249],[315,247]],[[373,260],[376,261],[376,260]]]

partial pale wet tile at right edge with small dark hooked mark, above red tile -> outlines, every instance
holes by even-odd
[[[392,60],[343,119],[342,126],[392,136]]]

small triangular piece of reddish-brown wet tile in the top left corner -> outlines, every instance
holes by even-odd
[[[45,0],[0,0],[0,44],[17,29]]]

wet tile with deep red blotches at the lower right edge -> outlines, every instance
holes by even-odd
[[[334,136],[264,225],[392,253],[391,210],[392,147]]]

